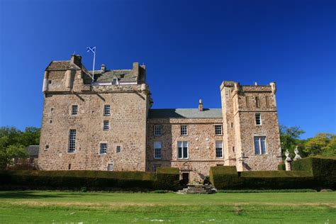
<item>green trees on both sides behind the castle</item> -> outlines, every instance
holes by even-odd
[[[282,155],[289,150],[294,155],[298,146],[301,157],[310,155],[336,156],[336,135],[331,133],[318,133],[313,138],[300,139],[304,130],[295,127],[280,126],[280,139]],[[28,145],[40,144],[40,128],[28,127],[24,131],[15,127],[0,128],[0,169],[6,169],[13,158],[26,158]]]

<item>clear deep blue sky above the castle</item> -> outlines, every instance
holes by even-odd
[[[223,80],[277,84],[279,123],[336,133],[335,1],[0,0],[0,126],[40,127],[43,71],[145,63],[154,108],[220,108]]]

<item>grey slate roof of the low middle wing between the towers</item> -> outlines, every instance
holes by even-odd
[[[150,109],[149,118],[223,118],[222,109],[203,109],[199,111],[198,108],[191,109]]]

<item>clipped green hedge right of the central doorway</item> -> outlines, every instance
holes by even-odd
[[[211,167],[217,189],[335,189],[335,157],[308,157],[293,162],[293,171],[237,172],[236,167]]]

